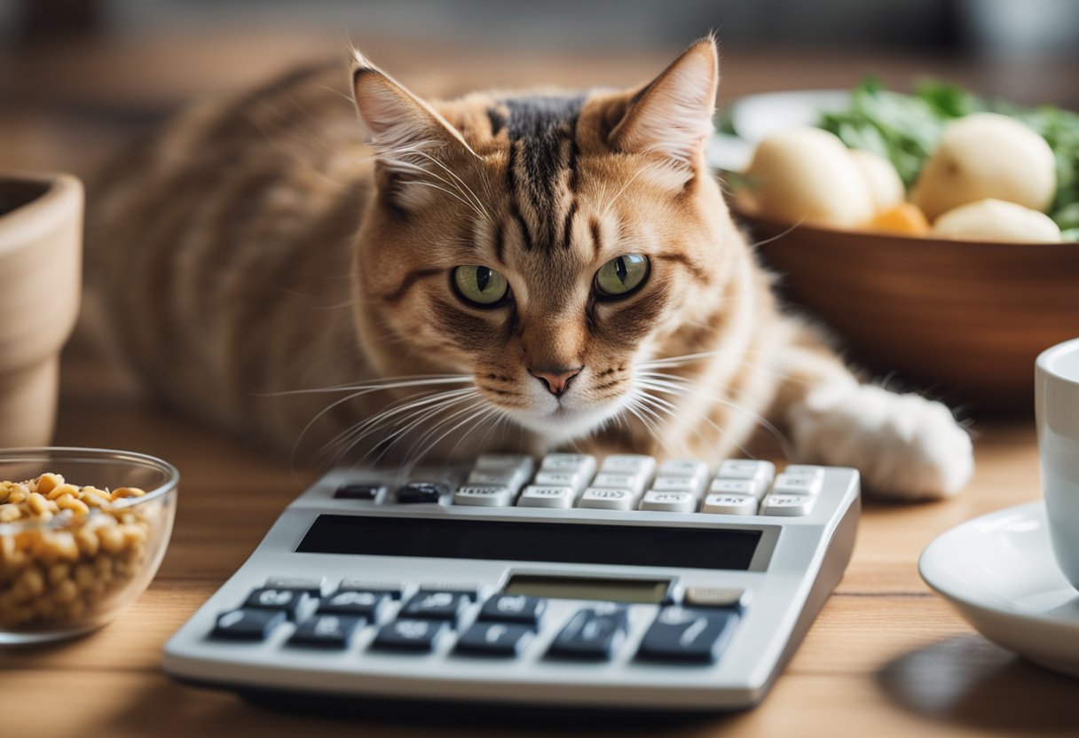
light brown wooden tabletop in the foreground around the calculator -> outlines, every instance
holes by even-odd
[[[432,735],[429,725],[283,716],[168,679],[162,644],[243,563],[313,473],[154,409],[85,346],[68,351],[63,374],[57,442],[172,461],[182,474],[176,529],[156,579],[114,623],[70,643],[0,652],[0,735]],[[978,473],[957,498],[865,506],[846,576],[760,708],[656,733],[1079,734],[1071,702],[1079,682],[983,640],[918,577],[918,555],[934,536],[1039,496],[1033,423],[974,430]]]

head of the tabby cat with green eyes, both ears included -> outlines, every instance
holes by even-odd
[[[711,348],[745,248],[705,162],[718,82],[711,38],[634,90],[439,102],[357,55],[357,313],[383,371],[466,373],[557,441],[631,402],[642,361]]]

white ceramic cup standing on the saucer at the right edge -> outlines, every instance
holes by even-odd
[[[1056,563],[1079,589],[1079,338],[1043,351],[1034,373],[1049,535]]]

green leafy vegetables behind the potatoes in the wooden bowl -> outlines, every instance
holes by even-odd
[[[844,144],[888,159],[910,188],[950,121],[991,111],[1019,119],[1049,144],[1056,156],[1056,194],[1049,216],[1066,238],[1079,236],[1079,114],[1053,106],[1023,108],[985,100],[961,87],[923,82],[913,95],[885,90],[868,77],[855,87],[850,108],[821,115],[818,123]]]

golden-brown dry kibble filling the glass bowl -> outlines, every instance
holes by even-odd
[[[146,561],[160,508],[112,502],[145,494],[78,487],[58,474],[0,481],[0,523],[63,516],[58,527],[0,533],[0,628],[76,624],[126,585]]]

